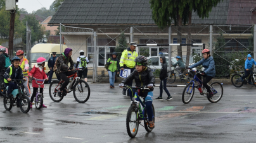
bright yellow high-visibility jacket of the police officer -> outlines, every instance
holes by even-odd
[[[138,57],[138,54],[136,51],[131,51],[131,50],[124,50],[122,52],[122,57],[120,59],[120,67],[124,67],[126,65],[127,67],[133,68],[135,67],[135,62],[134,60]]]

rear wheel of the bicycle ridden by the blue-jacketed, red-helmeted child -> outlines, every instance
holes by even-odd
[[[210,86],[212,86],[212,88],[214,89],[214,91],[212,91],[214,93],[214,96],[212,96],[212,98],[207,98],[207,99],[212,103],[217,103],[222,98],[223,87],[221,83],[218,83],[218,82],[212,83],[210,84]]]

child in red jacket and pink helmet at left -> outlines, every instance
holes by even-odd
[[[37,65],[33,67],[33,69],[29,72],[29,77],[35,77],[36,79],[46,79],[48,81],[48,77],[46,75],[46,72],[44,72],[44,66],[45,66],[46,59],[44,57],[39,57],[37,59]],[[42,81],[37,81],[37,83],[42,83]],[[32,87],[33,87],[33,94],[30,99],[30,108],[32,108],[32,103],[34,101],[35,95],[37,93],[37,90],[39,88],[39,84],[37,84],[35,81],[32,81]],[[43,94],[44,90],[44,84],[40,85],[40,93]],[[47,106],[42,105],[43,107],[47,108]]]

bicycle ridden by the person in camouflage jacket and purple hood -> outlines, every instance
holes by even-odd
[[[86,103],[87,100],[89,100],[90,97],[90,87],[89,84],[86,83],[86,81],[81,80],[80,77],[77,76],[77,72],[75,74],[72,74],[71,76],[68,76],[68,78],[72,77],[72,81],[69,86],[67,86],[67,93],[70,93],[73,91],[74,98],[78,103]],[[52,81],[49,86],[49,95],[51,97],[51,100],[54,102],[60,102],[63,100],[64,96],[67,95],[67,93],[63,94],[61,97],[58,96],[58,91],[60,90],[61,85],[64,83],[64,81],[61,79],[61,81]],[[71,89],[72,84],[74,84],[74,89]],[[83,96],[85,94],[85,96]]]

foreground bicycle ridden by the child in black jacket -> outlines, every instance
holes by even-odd
[[[149,89],[146,88],[146,86],[141,86],[139,88],[132,88],[131,86],[124,86],[125,89],[136,89],[134,93],[134,97],[132,98],[131,101],[131,106],[129,107],[129,110],[127,112],[127,117],[126,117],[126,129],[127,133],[130,137],[134,138],[139,129],[139,124],[141,124],[141,121],[144,120],[144,128],[146,129],[147,132],[151,132],[153,129],[150,129],[149,123],[148,123],[148,115],[146,113],[146,105],[144,104],[144,97],[143,101],[141,101],[141,98],[138,96],[138,89]],[[142,110],[141,110],[141,105],[142,105]],[[152,104],[153,108],[153,121],[155,122],[155,108]]]

